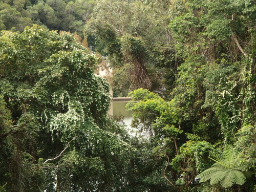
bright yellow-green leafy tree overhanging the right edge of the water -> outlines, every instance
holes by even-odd
[[[201,141],[199,136],[189,134],[190,130],[181,119],[182,112],[178,113],[175,99],[165,101],[157,94],[142,89],[131,92],[129,96],[132,100],[126,107],[134,111],[133,125],[144,128],[145,134],[150,135],[155,153],[166,162],[158,167],[166,182],[176,189],[194,183],[197,172],[208,166],[205,158],[213,146]],[[185,143],[183,132],[190,139]],[[169,163],[172,166],[168,166]]]

